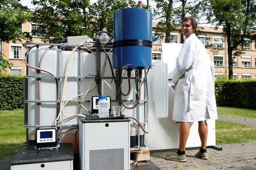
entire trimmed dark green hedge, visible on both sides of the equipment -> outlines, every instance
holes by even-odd
[[[0,75],[0,110],[23,108],[23,76]],[[218,106],[256,109],[256,80],[229,80],[215,82]]]

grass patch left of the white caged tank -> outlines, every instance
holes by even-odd
[[[12,159],[24,142],[23,110],[0,111],[0,161]]]

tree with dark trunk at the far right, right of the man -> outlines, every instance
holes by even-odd
[[[255,41],[256,1],[210,0],[210,5],[208,20],[222,25],[227,37],[229,79],[232,79],[233,55],[241,54],[239,48],[245,39]]]

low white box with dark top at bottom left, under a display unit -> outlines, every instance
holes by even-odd
[[[35,150],[23,147],[11,160],[11,170],[73,170],[73,147],[62,143],[57,150]]]

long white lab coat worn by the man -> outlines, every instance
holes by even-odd
[[[174,113],[179,122],[217,119],[214,77],[203,43],[193,33],[185,40],[176,59]]]

